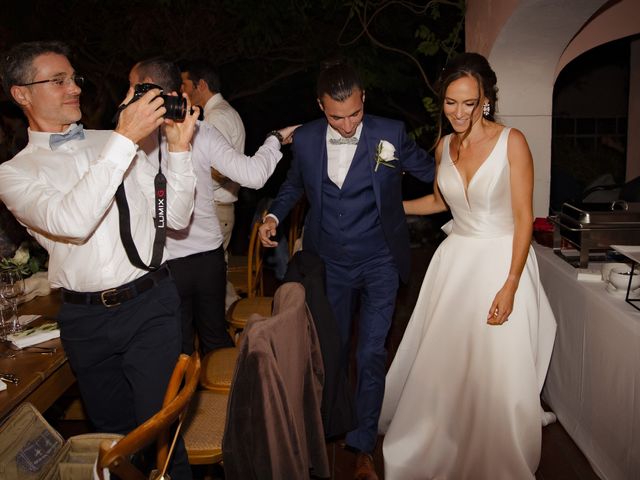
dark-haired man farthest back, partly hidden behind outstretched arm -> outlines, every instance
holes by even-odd
[[[208,62],[194,60],[182,66],[182,92],[189,95],[192,105],[203,108],[205,122],[216,127],[238,152],[244,153],[244,124],[238,112],[222,96],[221,89],[220,76]],[[215,168],[211,169],[211,177],[226,258],[235,224],[234,204],[238,201],[240,185]],[[227,282],[226,307],[229,308],[237,298],[233,285]]]

